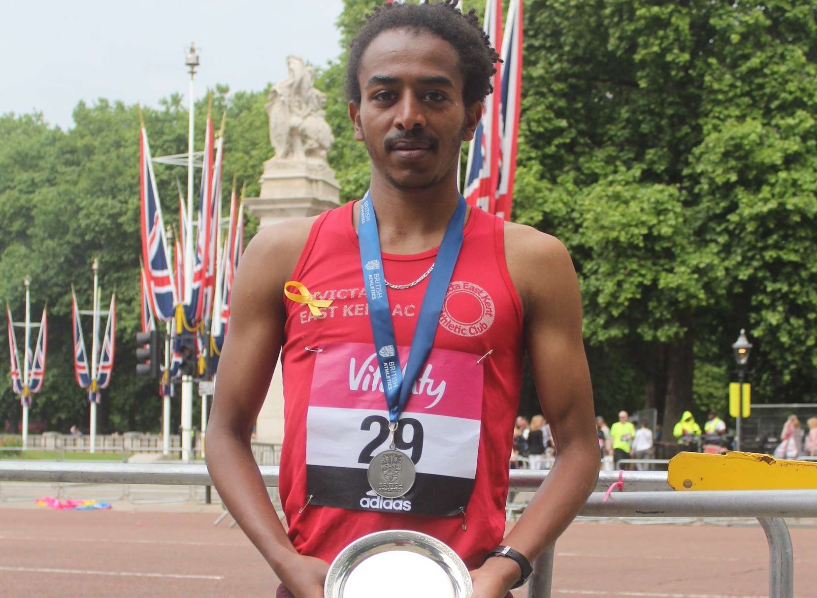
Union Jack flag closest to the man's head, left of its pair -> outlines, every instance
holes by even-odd
[[[502,42],[502,0],[486,0],[484,31],[493,47]],[[498,90],[502,78],[497,71],[491,82],[493,93],[484,101],[484,112],[468,147],[465,190],[468,203],[486,212],[496,212],[496,191],[499,178],[499,102]]]

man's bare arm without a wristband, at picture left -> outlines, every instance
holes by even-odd
[[[250,439],[283,342],[283,283],[292,273],[310,224],[311,220],[299,220],[271,227],[257,234],[244,252],[207,431],[208,471],[221,499],[292,591],[298,568],[320,565],[304,563],[289,542],[252,457]],[[296,596],[313,595],[323,592]]]

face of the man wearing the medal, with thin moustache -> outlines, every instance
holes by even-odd
[[[429,189],[456,176],[462,141],[470,141],[482,105],[462,104],[457,51],[442,38],[391,29],[360,60],[360,104],[349,115],[364,141],[373,176],[398,189]]]

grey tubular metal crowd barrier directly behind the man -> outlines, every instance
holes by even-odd
[[[278,467],[260,466],[267,486],[278,485]],[[532,491],[548,471],[511,471],[511,489]],[[212,484],[199,464],[0,462],[0,481],[92,484]],[[596,492],[580,515],[642,517],[755,517],[769,543],[769,596],[793,598],[794,550],[784,517],[817,517],[815,490],[674,492],[666,471],[625,471],[623,489],[605,501],[601,490],[618,482],[618,471],[601,471]],[[636,492],[633,492],[636,491]],[[550,598],[555,546],[534,561],[529,598]]]

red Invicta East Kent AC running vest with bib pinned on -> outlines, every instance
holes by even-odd
[[[471,209],[434,346],[395,435],[417,478],[405,496],[384,499],[366,478],[368,462],[388,448],[388,413],[352,206],[319,216],[291,277],[332,304],[316,317],[308,306],[283,299],[279,491],[289,538],[301,555],[331,562],[367,533],[413,529],[478,567],[505,533],[522,373],[522,307],[505,261],[504,223]],[[383,253],[386,280],[413,282],[436,253]],[[388,289],[403,366],[427,283]]]

